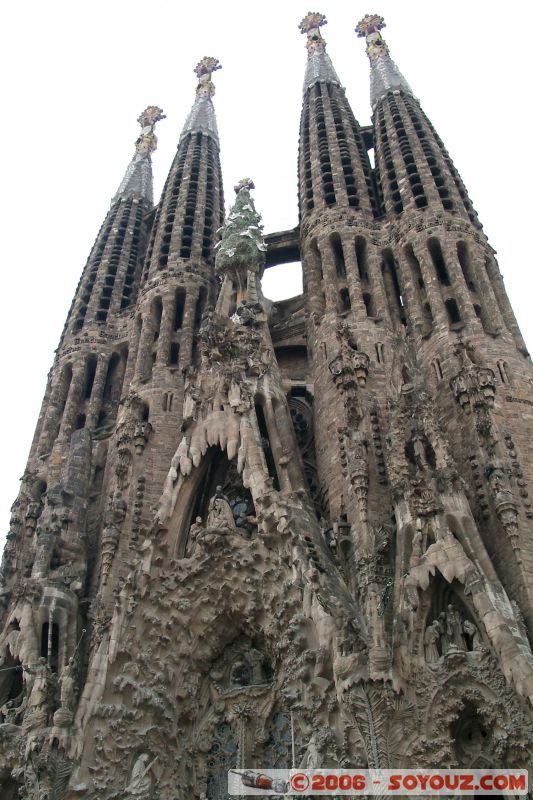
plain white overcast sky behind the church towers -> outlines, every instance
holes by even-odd
[[[194,98],[193,68],[220,59],[215,106],[226,200],[244,176],[267,232],[297,223],[297,146],[307,2],[20,0],[3,6],[0,539],[18,492],[46,374],[70,302],[133,154],[136,118],[160,105],[155,196]],[[458,167],[526,342],[531,312],[530,3],[323,0],[328,52],[361,124],[368,62],[353,32],[382,14],[392,57]],[[290,284],[290,285],[289,285]],[[294,282],[267,285],[271,297]]]

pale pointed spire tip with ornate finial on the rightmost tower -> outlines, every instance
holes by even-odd
[[[372,108],[387,92],[402,90],[412,95],[411,87],[390,57],[387,42],[380,30],[385,20],[378,14],[367,14],[355,28],[358,36],[366,38],[366,52],[370,59],[370,104]]]

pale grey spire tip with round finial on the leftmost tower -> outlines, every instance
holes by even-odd
[[[148,106],[144,109],[137,122],[141,126],[141,133],[135,142],[135,155],[128,164],[113,203],[127,195],[140,195],[150,205],[154,202],[152,181],[152,153],[157,148],[157,136],[154,133],[156,122],[165,119],[163,109],[158,106]]]

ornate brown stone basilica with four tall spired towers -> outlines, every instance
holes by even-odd
[[[356,28],[369,127],[325,22],[300,24],[295,230],[263,235],[248,179],[224,218],[216,59],[156,208],[164,115],[139,118],[12,509],[3,800],[531,763],[531,361],[383,19]]]

